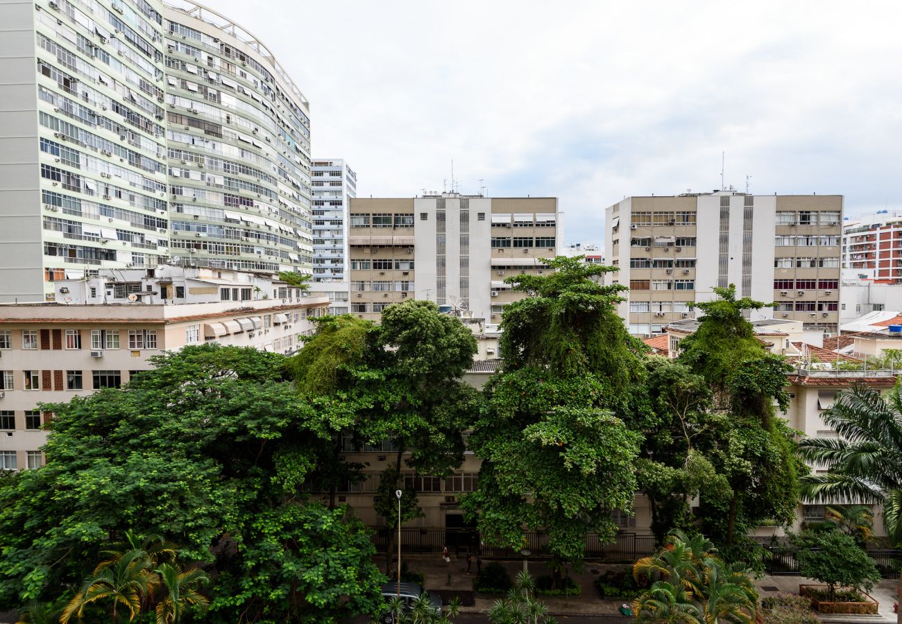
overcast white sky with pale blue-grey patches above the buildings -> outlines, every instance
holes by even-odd
[[[566,242],[629,195],[726,185],[902,207],[902,3],[206,0],[310,101],[360,197],[555,196]]]

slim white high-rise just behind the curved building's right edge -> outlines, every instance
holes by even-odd
[[[357,174],[342,159],[317,158],[312,167],[313,278],[310,289],[332,302],[332,314],[348,312],[348,210],[357,197]]]

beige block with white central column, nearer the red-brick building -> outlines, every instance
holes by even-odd
[[[627,197],[605,209],[609,280],[630,287],[619,314],[630,334],[657,335],[694,317],[713,287],[776,301],[753,318],[839,324],[842,196],[755,196],[735,191]]]

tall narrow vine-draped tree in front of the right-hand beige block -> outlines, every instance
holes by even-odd
[[[787,407],[787,364],[767,353],[742,316],[743,310],[769,304],[736,298],[732,284],[714,292],[718,298],[696,304],[704,316],[695,334],[680,343],[677,362],[713,391],[704,457],[722,487],[701,492],[702,517],[705,532],[732,556],[729,546],[750,528],[795,518],[805,465],[796,457],[795,432],[774,408],[775,402]]]

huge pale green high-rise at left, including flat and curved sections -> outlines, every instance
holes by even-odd
[[[0,301],[155,267],[309,272],[308,102],[178,0],[0,0]]]

